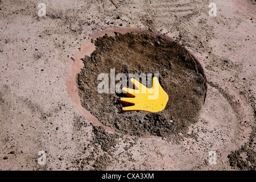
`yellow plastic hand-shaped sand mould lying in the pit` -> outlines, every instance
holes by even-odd
[[[122,111],[142,110],[150,113],[162,111],[168,102],[168,95],[159,84],[158,78],[152,79],[152,88],[148,89],[139,81],[130,80],[135,89],[122,88],[122,93],[127,97],[120,98],[120,102],[127,106]]]

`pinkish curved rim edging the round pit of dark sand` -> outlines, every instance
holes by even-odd
[[[98,119],[92,115],[88,110],[86,110],[82,105],[80,101],[80,96],[79,96],[79,89],[77,87],[77,82],[76,82],[76,75],[81,71],[81,68],[84,67],[84,63],[82,63],[81,58],[84,58],[85,55],[90,56],[90,54],[95,50],[96,46],[91,42],[92,39],[97,39],[99,37],[104,36],[105,34],[108,34],[108,36],[115,36],[114,32],[119,32],[121,34],[126,34],[127,32],[134,32],[134,34],[141,34],[141,33],[146,33],[155,36],[158,38],[158,36],[162,37],[162,40],[166,42],[175,42],[173,38],[167,35],[163,35],[160,32],[150,32],[148,30],[144,30],[141,28],[127,28],[127,27],[113,27],[113,28],[108,28],[106,30],[97,32],[96,34],[93,34],[88,38],[80,47],[80,50],[76,51],[76,53],[73,56],[73,59],[71,59],[69,66],[68,66],[68,71],[67,71],[67,78],[66,78],[66,85],[67,85],[67,91],[69,93],[69,96],[71,97],[71,101],[75,105],[76,109],[79,111],[80,114],[82,114],[85,119],[88,119],[88,121],[94,123],[96,126],[102,126],[106,131],[109,131],[110,133],[118,133],[117,131],[111,129],[108,126],[102,125]],[[188,50],[187,50],[188,51]],[[196,57],[188,51],[193,58],[196,60],[197,63],[197,68],[199,69],[199,73],[201,73],[204,78],[205,78],[205,96],[204,96],[204,101],[205,97],[207,96],[207,78],[204,73],[204,69],[201,66],[199,60],[196,59]],[[122,134],[123,135],[123,134]],[[137,136],[131,136],[131,135],[125,135],[126,137],[133,137],[133,138],[159,138],[156,136],[146,136],[146,137],[137,137]]]

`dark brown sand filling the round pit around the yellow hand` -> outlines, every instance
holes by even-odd
[[[199,62],[185,48],[159,34],[107,34],[92,40],[96,49],[82,59],[84,67],[76,77],[82,107],[97,118],[93,118],[95,123],[99,121],[106,129],[118,133],[166,138],[186,133],[188,126],[197,122],[207,91]],[[114,76],[124,73],[127,80],[129,73],[158,73],[159,83],[169,97],[165,109],[157,113],[121,112],[123,105],[119,99],[125,95],[111,93],[110,86],[110,93],[98,92],[98,76],[108,74],[110,84],[113,70]],[[119,81],[115,80],[115,84]]]

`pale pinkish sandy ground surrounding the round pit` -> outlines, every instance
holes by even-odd
[[[39,17],[40,2],[0,1],[1,170],[248,169],[230,166],[228,156],[255,137],[255,1],[114,1],[116,9],[110,1],[44,0]],[[211,2],[216,17],[208,14]],[[182,142],[123,136],[104,150],[72,103],[71,57],[91,35],[120,26],[166,33],[203,65],[207,98]],[[255,144],[251,152],[240,160],[250,153],[255,162]]]

